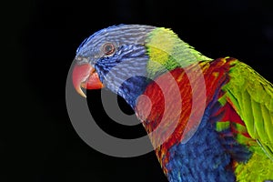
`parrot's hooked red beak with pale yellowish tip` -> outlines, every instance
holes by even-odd
[[[84,97],[86,97],[86,94],[83,92],[82,87],[86,89],[100,89],[103,87],[95,68],[88,63],[74,67],[72,81],[76,92]]]

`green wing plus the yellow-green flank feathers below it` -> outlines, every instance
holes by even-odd
[[[248,163],[236,166],[237,180],[263,181],[273,178],[273,87],[251,67],[238,60],[229,70],[223,90],[227,101],[244,121],[249,136],[238,135],[238,143],[253,152]],[[238,125],[239,126],[239,125]],[[244,126],[238,127],[238,131]],[[254,142],[252,139],[255,139]],[[252,140],[252,141],[251,141]]]

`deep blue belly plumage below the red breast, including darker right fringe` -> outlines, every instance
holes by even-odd
[[[216,122],[223,116],[215,116],[220,106],[218,102],[207,106],[195,135],[186,144],[177,144],[169,149],[169,181],[236,180],[232,162],[247,163],[252,153],[229,135],[229,129],[216,131]]]

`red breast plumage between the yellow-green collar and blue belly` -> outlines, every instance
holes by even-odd
[[[190,82],[187,77],[187,71],[197,73],[197,69],[201,68],[202,73],[200,74],[202,74],[205,79],[207,95],[207,98],[205,99],[207,99],[206,105],[208,105],[209,102],[213,100],[213,96],[216,96],[217,92],[218,96],[221,96],[219,87],[228,81],[227,73],[233,60],[235,59],[219,58],[211,63],[199,62],[198,65],[189,66],[185,69],[176,68],[171,70],[169,72],[171,76],[168,73],[158,76],[155,82],[152,82],[149,86],[147,86],[144,95],[149,97],[151,105],[147,104],[147,99],[141,99],[141,97],[138,99],[136,113],[137,116],[139,116],[139,118],[141,118],[143,121],[143,125],[146,127],[147,132],[151,133],[154,131],[160,122],[160,125],[164,126],[165,130],[161,130],[155,134],[153,133],[150,136],[154,146],[157,146],[157,141],[160,140],[160,138],[167,137],[165,136],[165,134],[168,133],[167,129],[172,128],[171,125],[176,123],[171,121],[176,121],[178,119],[178,123],[177,126],[175,126],[173,134],[167,137],[166,142],[156,148],[157,157],[165,172],[167,172],[165,164],[168,163],[168,149],[183,140],[182,134],[185,132],[189,116],[191,114],[198,115],[198,112],[201,112],[198,110],[198,108],[200,108],[198,106],[192,108],[192,96],[194,91],[203,89],[200,87],[202,85],[198,83],[198,79],[193,81],[191,80]],[[174,91],[176,90],[176,86],[178,86],[178,93]],[[201,101],[201,99],[204,98],[198,97],[197,99]],[[170,106],[166,106],[167,103],[172,104]],[[176,106],[180,105],[181,109],[177,109]],[[167,119],[162,120],[162,116],[165,115],[168,116]],[[190,132],[191,128],[193,127],[194,126],[190,125],[187,126],[187,132]]]

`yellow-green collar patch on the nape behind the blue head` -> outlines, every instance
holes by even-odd
[[[176,67],[187,67],[199,61],[212,59],[203,56],[182,41],[172,30],[156,28],[147,36],[148,77],[153,79]]]

